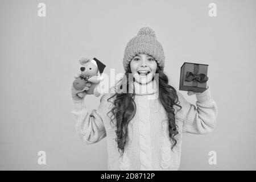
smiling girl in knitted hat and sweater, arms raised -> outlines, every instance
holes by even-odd
[[[109,170],[177,170],[183,133],[207,134],[217,117],[209,86],[196,94],[196,106],[168,84],[164,51],[150,27],[129,41],[123,57],[124,77],[88,113],[85,92],[72,86],[76,131],[88,144],[107,137]],[[132,79],[129,78],[132,76]]]

